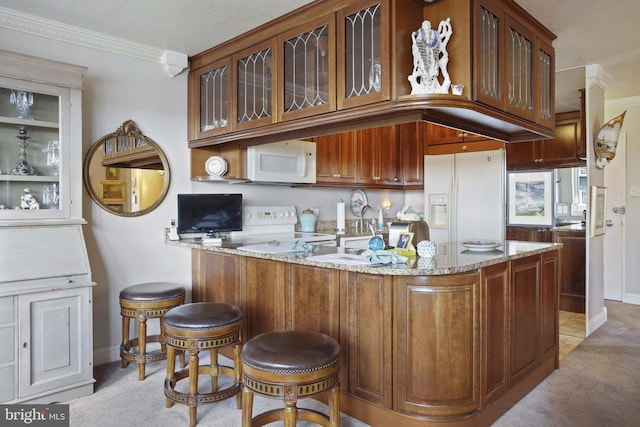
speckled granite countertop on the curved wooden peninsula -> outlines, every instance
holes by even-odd
[[[199,249],[210,252],[220,252],[239,256],[271,259],[274,261],[285,261],[295,264],[306,264],[317,267],[334,268],[360,273],[398,275],[398,276],[435,276],[464,273],[474,271],[482,267],[499,264],[511,259],[524,258],[526,256],[540,254],[551,250],[559,249],[559,243],[522,242],[507,240],[504,245],[496,250],[487,252],[475,252],[467,250],[461,242],[446,243],[438,245],[438,254],[434,258],[421,258],[415,256],[408,259],[403,264],[369,265],[369,264],[344,264],[341,262],[319,262],[306,258],[316,255],[339,255],[341,249],[335,246],[311,245],[308,252],[279,252],[261,253],[249,252],[238,249],[241,243],[225,240],[222,245],[202,245],[196,240],[171,241],[166,239],[165,243],[172,246],[180,246],[191,249]],[[283,243],[285,245],[286,243]],[[362,252],[362,251],[359,251]],[[344,252],[342,252],[344,253]],[[357,252],[356,252],[357,253]],[[349,255],[353,255],[351,252]],[[339,257],[332,257],[334,259]],[[346,257],[345,257],[346,258]]]

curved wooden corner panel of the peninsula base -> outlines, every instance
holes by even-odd
[[[395,278],[394,408],[435,417],[480,406],[477,273]]]

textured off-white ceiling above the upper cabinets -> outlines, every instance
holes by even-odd
[[[640,95],[639,0],[515,1],[558,36],[557,70],[600,64],[614,80],[606,98]],[[187,55],[307,3],[310,0],[0,0],[2,7]]]

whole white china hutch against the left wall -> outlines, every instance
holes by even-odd
[[[0,51],[0,402],[93,393],[86,68]]]

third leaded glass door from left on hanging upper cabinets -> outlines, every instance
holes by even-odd
[[[280,120],[335,110],[335,24],[323,16],[279,37]]]

